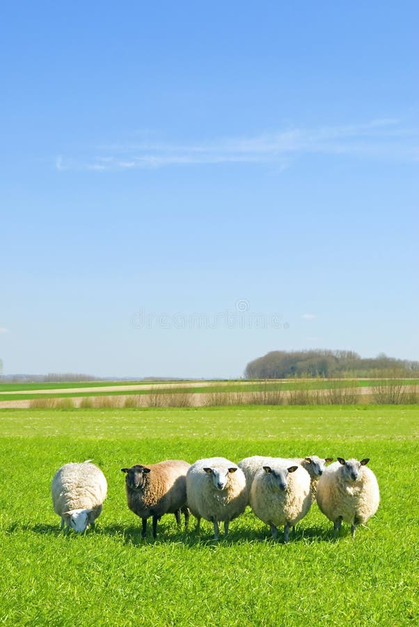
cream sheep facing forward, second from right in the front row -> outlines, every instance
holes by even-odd
[[[265,463],[251,484],[250,505],[257,518],[271,527],[272,538],[277,527],[284,525],[283,541],[310,509],[310,475],[300,465],[287,466],[278,460]]]

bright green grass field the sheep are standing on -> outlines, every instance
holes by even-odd
[[[418,624],[419,409],[231,407],[1,410],[1,624],[329,626]],[[251,454],[370,457],[381,506],[352,541],[313,506],[287,545],[251,511],[215,544],[161,520],[142,540],[120,468]],[[92,458],[109,483],[95,531],[59,532],[49,484]]]

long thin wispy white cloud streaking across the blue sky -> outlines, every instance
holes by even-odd
[[[419,161],[418,131],[396,118],[367,123],[290,128],[255,137],[230,137],[202,144],[142,141],[99,146],[84,158],[56,157],[56,169],[91,171],[160,168],[199,164],[276,164],[282,169],[302,155]]]

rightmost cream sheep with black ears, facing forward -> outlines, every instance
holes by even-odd
[[[338,457],[319,479],[317,504],[333,522],[335,535],[343,520],[351,524],[354,538],[356,527],[364,525],[378,509],[379,487],[374,472],[366,467],[369,461]]]

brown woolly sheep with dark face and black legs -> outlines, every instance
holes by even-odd
[[[188,527],[186,475],[189,463],[170,459],[157,464],[136,464],[121,468],[125,472],[127,503],[131,511],[142,518],[141,535],[147,531],[147,519],[152,516],[152,535],[157,536],[157,521],[166,513],[174,513],[180,525],[180,512],[184,513],[185,529]]]

